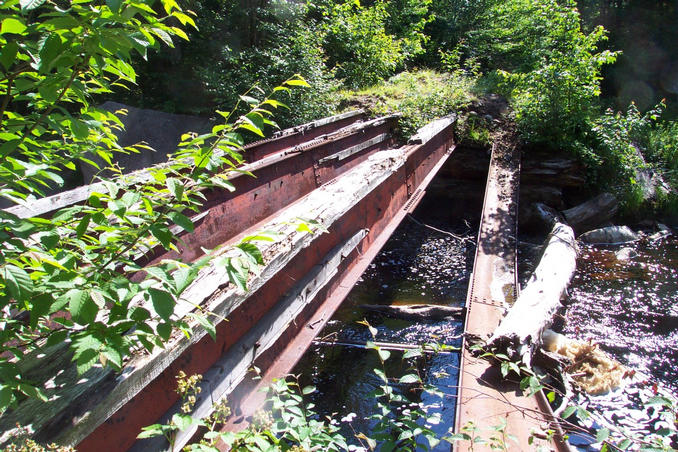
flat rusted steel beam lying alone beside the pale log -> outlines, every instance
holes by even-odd
[[[494,147],[485,188],[473,275],[466,300],[465,333],[485,337],[491,334],[516,299],[518,289],[516,244],[520,152],[516,148]],[[509,450],[534,450],[538,446],[568,450],[558,435],[552,441],[530,437],[535,431],[559,426],[540,392],[522,396],[519,381],[500,375],[498,366],[474,356],[464,339],[459,376],[459,394],[455,431],[474,425],[473,436],[489,439],[496,434],[492,427],[502,426]],[[486,445],[460,441],[456,451],[490,450]]]

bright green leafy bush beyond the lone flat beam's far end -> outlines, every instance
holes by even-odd
[[[500,87],[513,100],[528,141],[569,147],[595,112],[600,71],[615,53],[598,51],[605,30],[581,30],[573,1],[514,0],[495,7],[491,51],[503,62]]]

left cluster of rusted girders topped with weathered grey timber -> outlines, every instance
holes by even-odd
[[[121,373],[95,367],[81,377],[66,344],[43,350],[33,368],[36,375],[42,373],[42,381],[56,375],[47,390],[49,402],[26,400],[4,413],[0,426],[10,432],[16,422],[30,425],[36,440],[77,445],[80,451],[163,449],[167,445],[162,441],[141,442],[136,436],[143,426],[176,412],[175,376],[181,370],[205,377],[196,416],[209,413],[212,403],[226,395],[235,412],[253,409],[257,384],[292,368],[396,226],[416,207],[454,148],[453,123],[453,118],[439,120],[419,143],[386,151],[381,149],[390,138],[384,134],[394,126],[393,118],[356,122],[313,137],[299,132],[296,141],[261,151],[258,160],[248,164],[257,178],[237,177],[233,195],[207,193],[202,218],[179,246],[180,257],[192,260],[201,247],[233,242],[262,229],[281,237],[260,246],[266,265],[250,279],[248,293],[228,285],[225,269],[213,261],[182,295],[190,302],[180,300],[177,315],[188,315],[200,305],[227,319],[216,325],[217,340],[189,320],[190,338],[177,334],[164,349],[140,352]],[[300,143],[305,138],[309,140]],[[342,153],[347,149],[351,152]],[[327,159],[335,154],[337,158]],[[134,177],[145,176],[140,172]],[[70,193],[75,196],[66,197],[68,203],[82,202],[91,188]],[[52,205],[65,202],[60,199]],[[21,215],[48,215],[54,209],[48,203],[30,210]],[[328,232],[298,230],[300,217]],[[146,262],[171,255],[153,251]],[[253,364],[264,373],[261,383],[246,375]],[[180,434],[177,447],[191,434]]]

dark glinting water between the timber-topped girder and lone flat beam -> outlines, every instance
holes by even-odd
[[[406,220],[319,337],[365,344],[372,339],[370,333],[356,322],[366,319],[377,329],[376,340],[380,342],[405,345],[436,342],[459,347],[461,339],[458,336],[463,328],[457,320],[413,322],[367,312],[360,306],[409,303],[462,306],[469,277],[467,258],[472,257],[473,251],[468,242]],[[317,387],[311,397],[321,416],[340,420],[349,413],[356,414],[350,426],[341,424],[346,437],[353,438],[356,433],[367,432],[374,425],[367,418],[375,412],[374,400],[369,393],[380,385],[379,378],[373,373],[375,368],[381,368],[381,364],[374,350],[315,345],[304,355],[294,373],[301,374],[302,385]],[[416,387],[394,385],[394,390],[406,395],[413,404],[441,415],[440,422],[430,427],[443,436],[454,424],[458,368],[456,353],[403,359],[402,352],[392,351],[385,371],[390,378],[397,379],[413,369],[424,382],[435,385],[442,392],[441,399],[422,393]],[[441,444],[435,450],[448,451],[449,443]]]

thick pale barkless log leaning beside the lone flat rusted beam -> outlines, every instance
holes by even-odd
[[[539,265],[490,338],[490,348],[529,367],[542,332],[560,307],[560,298],[574,274],[576,257],[572,228],[557,222],[547,238]]]

